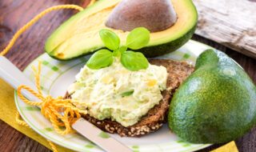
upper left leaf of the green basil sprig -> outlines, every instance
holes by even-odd
[[[117,34],[111,30],[100,30],[99,35],[102,38],[102,42],[105,44],[106,48],[109,50],[118,50],[120,45],[120,39]]]

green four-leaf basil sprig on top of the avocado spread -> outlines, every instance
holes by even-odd
[[[111,30],[100,30],[99,35],[109,50],[98,50],[94,53],[86,63],[90,69],[98,70],[111,66],[115,57],[121,58],[122,66],[128,70],[143,70],[149,66],[149,62],[142,53],[128,50],[128,48],[141,49],[150,42],[150,31],[146,28],[138,27],[130,31],[125,46],[120,46],[120,38]]]

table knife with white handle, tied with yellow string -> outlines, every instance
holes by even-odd
[[[18,70],[18,68],[14,66],[12,62],[3,56],[0,56],[0,78],[8,82],[10,86],[14,87],[14,89],[17,89],[18,86],[26,85],[30,86],[31,89],[36,90],[33,82],[26,78],[26,75],[23,74],[21,70]],[[22,90],[22,94],[30,101],[38,101],[37,98],[34,98],[34,96],[29,94],[26,90]],[[90,122],[87,122],[84,118],[78,119],[77,122],[74,122],[72,127],[74,130],[77,130],[79,134],[82,134],[82,136],[86,137],[91,142],[94,142],[103,150],[108,152],[132,151],[130,148],[124,146],[121,142],[118,142],[114,138],[111,138],[109,135],[106,135],[104,132],[105,138],[102,138],[102,130],[98,129]]]

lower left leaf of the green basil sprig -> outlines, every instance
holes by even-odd
[[[110,50],[98,50],[94,53],[88,62],[86,62],[86,66],[90,69],[98,70],[103,67],[111,66],[113,63],[113,55]]]

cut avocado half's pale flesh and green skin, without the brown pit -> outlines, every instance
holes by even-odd
[[[110,13],[121,0],[100,0],[64,22],[46,41],[45,50],[51,57],[69,60],[104,48],[99,30],[110,29],[118,34],[124,45],[129,31],[106,27]],[[154,57],[177,50],[187,42],[198,20],[197,10],[191,0],[171,0],[177,22],[166,30],[150,34],[149,44],[136,51]]]

